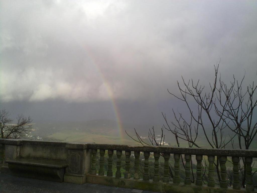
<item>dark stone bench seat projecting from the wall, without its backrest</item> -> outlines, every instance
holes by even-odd
[[[6,160],[9,169],[17,176],[63,182],[65,161],[37,158],[17,158]]]

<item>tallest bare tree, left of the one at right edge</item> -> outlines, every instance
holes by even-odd
[[[199,80],[196,83],[194,83],[193,80],[191,79],[188,81],[188,83],[186,83],[183,77],[182,77],[182,81],[183,81],[182,87],[177,81],[178,88],[180,91],[180,96],[175,95],[168,90],[168,92],[171,95],[185,102],[191,117],[190,123],[187,123],[187,121],[183,119],[182,115],[180,114],[180,118],[184,122],[183,125],[182,126],[176,125],[174,123],[172,123],[172,125],[175,126],[175,130],[178,128],[181,131],[183,131],[184,138],[182,139],[190,142],[190,144],[193,144],[197,147],[199,146],[196,145],[195,140],[192,140],[191,138],[189,138],[189,136],[191,136],[191,133],[192,133],[191,129],[188,131],[186,127],[186,126],[189,126],[189,128],[191,128],[192,120],[197,125],[195,129],[195,133],[196,134],[198,133],[198,128],[200,127],[203,130],[205,138],[211,148],[224,148],[225,145],[231,141],[231,139],[226,141],[226,138],[224,137],[223,129],[226,127],[226,124],[224,124],[224,119],[222,119],[226,106],[228,105],[228,99],[225,100],[223,108],[219,110],[221,112],[221,116],[216,116],[217,113],[215,113],[215,109],[213,109],[216,101],[216,92],[219,90],[217,85],[218,68],[219,68],[219,63],[216,66],[214,66],[215,79],[214,79],[213,85],[209,83],[210,92],[204,92],[205,86],[200,85]],[[196,113],[195,111],[193,111],[194,108],[192,107],[192,104],[189,103],[191,99],[198,106]],[[174,116],[175,116],[175,119],[177,120],[175,113],[174,113]],[[177,122],[178,121],[179,120],[177,120]],[[167,121],[166,121],[166,124],[168,125]],[[207,134],[208,126],[212,127],[211,136]],[[169,127],[168,130],[172,131],[169,125],[168,127]],[[219,158],[217,157],[215,167],[217,169],[217,176],[220,181],[221,177],[220,177],[218,166],[219,166]]]

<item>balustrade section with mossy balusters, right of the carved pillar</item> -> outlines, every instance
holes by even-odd
[[[158,146],[158,147],[154,147],[154,146],[138,146],[138,147],[133,147],[133,146],[127,146],[127,145],[107,145],[107,144],[87,144],[87,147],[90,148],[92,150],[92,152],[94,152],[93,156],[92,156],[92,163],[94,163],[94,168],[93,169],[93,173],[91,173],[91,175],[95,175],[97,176],[96,173],[96,153],[99,150],[100,151],[100,162],[99,162],[99,167],[101,168],[101,173],[99,170],[98,173],[98,177],[99,176],[103,176],[104,175],[104,161],[103,161],[103,156],[105,153],[105,150],[108,151],[108,171],[107,171],[107,176],[108,177],[115,177],[116,179],[121,179],[121,172],[120,172],[120,168],[121,168],[121,155],[124,152],[125,153],[125,172],[124,172],[124,179],[130,179],[131,174],[130,174],[130,170],[131,167],[133,165],[134,167],[134,180],[137,181],[142,181],[144,182],[145,186],[147,185],[147,182],[161,182],[161,185],[170,185],[170,187],[174,187],[174,185],[190,185],[190,187],[194,186],[191,183],[191,159],[192,159],[192,155],[195,155],[195,159],[196,159],[196,180],[195,180],[195,187],[194,190],[200,191],[199,187],[202,187],[201,192],[205,192],[203,191],[203,189],[206,189],[207,187],[209,187],[210,189],[214,189],[217,191],[223,191],[225,189],[227,189],[227,192],[231,191],[231,192],[236,192],[239,190],[243,190],[243,188],[241,188],[240,185],[240,180],[239,180],[239,168],[238,168],[238,164],[239,164],[239,160],[240,157],[244,157],[245,158],[245,162],[246,162],[246,191],[254,191],[254,185],[253,185],[253,180],[252,180],[252,162],[253,162],[253,157],[257,157],[257,151],[256,150],[226,150],[226,149],[203,149],[203,148],[181,148],[181,147],[162,147],[162,146]],[[116,163],[116,167],[117,167],[117,172],[114,175],[112,170],[112,166],[113,166],[113,152],[116,150],[117,152],[117,163]],[[110,152],[110,153],[109,153]],[[131,156],[131,152],[134,152],[134,163],[130,163],[130,156]],[[144,156],[144,168],[143,168],[143,178],[139,179],[139,155],[142,152],[143,156]],[[154,158],[154,175],[152,180],[150,180],[149,177],[149,157],[150,157],[150,153],[153,153],[153,158]],[[163,158],[164,158],[164,163],[163,163],[163,168],[160,168],[160,164],[159,164],[159,159],[160,159],[160,154],[162,154]],[[171,181],[169,178],[169,160],[171,159],[171,155],[173,154],[173,158],[174,158],[174,165],[173,165],[173,169],[174,169],[174,173],[173,173],[173,180]],[[181,181],[181,177],[180,177],[180,172],[181,172],[181,168],[180,168],[180,162],[181,162],[181,155],[184,159],[185,162],[185,179],[183,180],[183,182]],[[207,186],[203,185],[203,180],[202,180],[202,161],[203,161],[203,156],[207,156],[207,160],[208,160],[208,183]],[[215,182],[214,179],[214,175],[215,175],[215,167],[214,167],[214,162],[215,162],[215,157],[218,156],[219,157],[219,163],[220,163],[220,175],[221,175],[221,181],[219,182],[219,186],[217,186],[216,184],[218,183],[218,181]],[[233,184],[232,184],[232,188],[228,187],[228,183],[227,183],[227,170],[226,170],[226,162],[227,162],[227,158],[231,157],[232,163],[233,163]],[[102,161],[101,161],[102,159]],[[93,165],[93,164],[92,164]],[[115,165],[115,164],[114,164]],[[163,176],[160,176],[159,171],[163,170]],[[97,178],[97,177],[95,177]],[[97,179],[96,179],[97,180]],[[100,180],[100,179],[99,179]],[[90,181],[90,182],[94,182],[94,181]],[[106,184],[103,183],[103,184]],[[139,185],[140,186],[144,186]],[[179,186],[176,186],[177,188]],[[186,186],[184,186],[185,188]],[[150,188],[148,190],[153,190],[155,188]],[[159,188],[160,189],[160,188]],[[157,188],[157,191],[159,190]],[[172,189],[172,188],[171,188]],[[194,192],[194,191],[190,191],[188,188],[187,191],[181,191],[178,190],[176,191],[175,189],[172,189],[172,191],[174,192]],[[233,189],[233,190],[232,190]],[[208,192],[208,191],[206,191]]]

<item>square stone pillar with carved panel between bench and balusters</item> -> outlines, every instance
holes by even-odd
[[[84,184],[86,174],[91,170],[91,150],[87,144],[67,143],[68,167],[64,174],[64,182]]]

